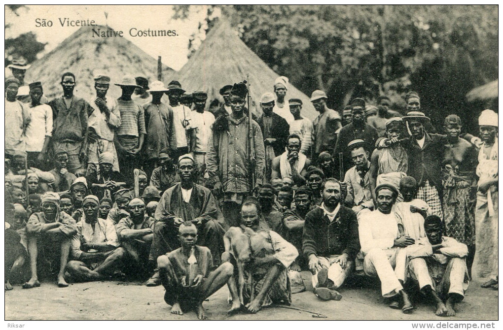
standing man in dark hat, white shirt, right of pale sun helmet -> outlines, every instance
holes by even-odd
[[[170,105],[173,108],[173,119],[177,140],[177,151],[173,155],[173,158],[178,159],[178,157],[194,150],[196,146],[196,127],[192,120],[191,109],[180,103],[180,97],[185,92],[180,82],[172,80],[167,88],[169,89],[167,95],[170,98]]]

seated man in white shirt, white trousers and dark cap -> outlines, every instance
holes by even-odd
[[[391,308],[398,309],[401,303],[402,312],[410,313],[414,307],[403,290],[406,252],[402,248],[412,245],[414,240],[398,234],[398,225],[392,212],[398,189],[384,183],[376,187],[375,194],[377,209],[363,213],[358,224],[364,255],[363,271],[367,276],[379,278],[381,294],[391,298]]]

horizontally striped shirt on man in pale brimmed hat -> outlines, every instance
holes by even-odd
[[[124,101],[117,99],[117,105],[121,116],[121,126],[117,129],[117,135],[130,135],[139,137],[140,134],[147,134],[145,130],[145,114],[143,107],[133,100]],[[115,109],[112,109],[114,112]]]

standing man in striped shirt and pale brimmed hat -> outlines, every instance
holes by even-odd
[[[134,78],[125,75],[121,83],[122,95],[117,99],[117,108],[121,116],[121,126],[115,135],[115,147],[119,159],[120,172],[129,186],[134,185],[133,170],[139,168],[139,153],[145,141],[145,114],[143,107],[131,99],[136,85]]]

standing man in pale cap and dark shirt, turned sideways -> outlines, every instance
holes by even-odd
[[[316,161],[322,151],[331,152],[336,144],[336,131],[342,127],[341,116],[334,110],[326,106],[326,94],[322,90],[315,90],[311,95],[311,102],[319,112],[318,117],[313,122],[314,145],[312,160]],[[348,141],[349,142],[349,141]]]

